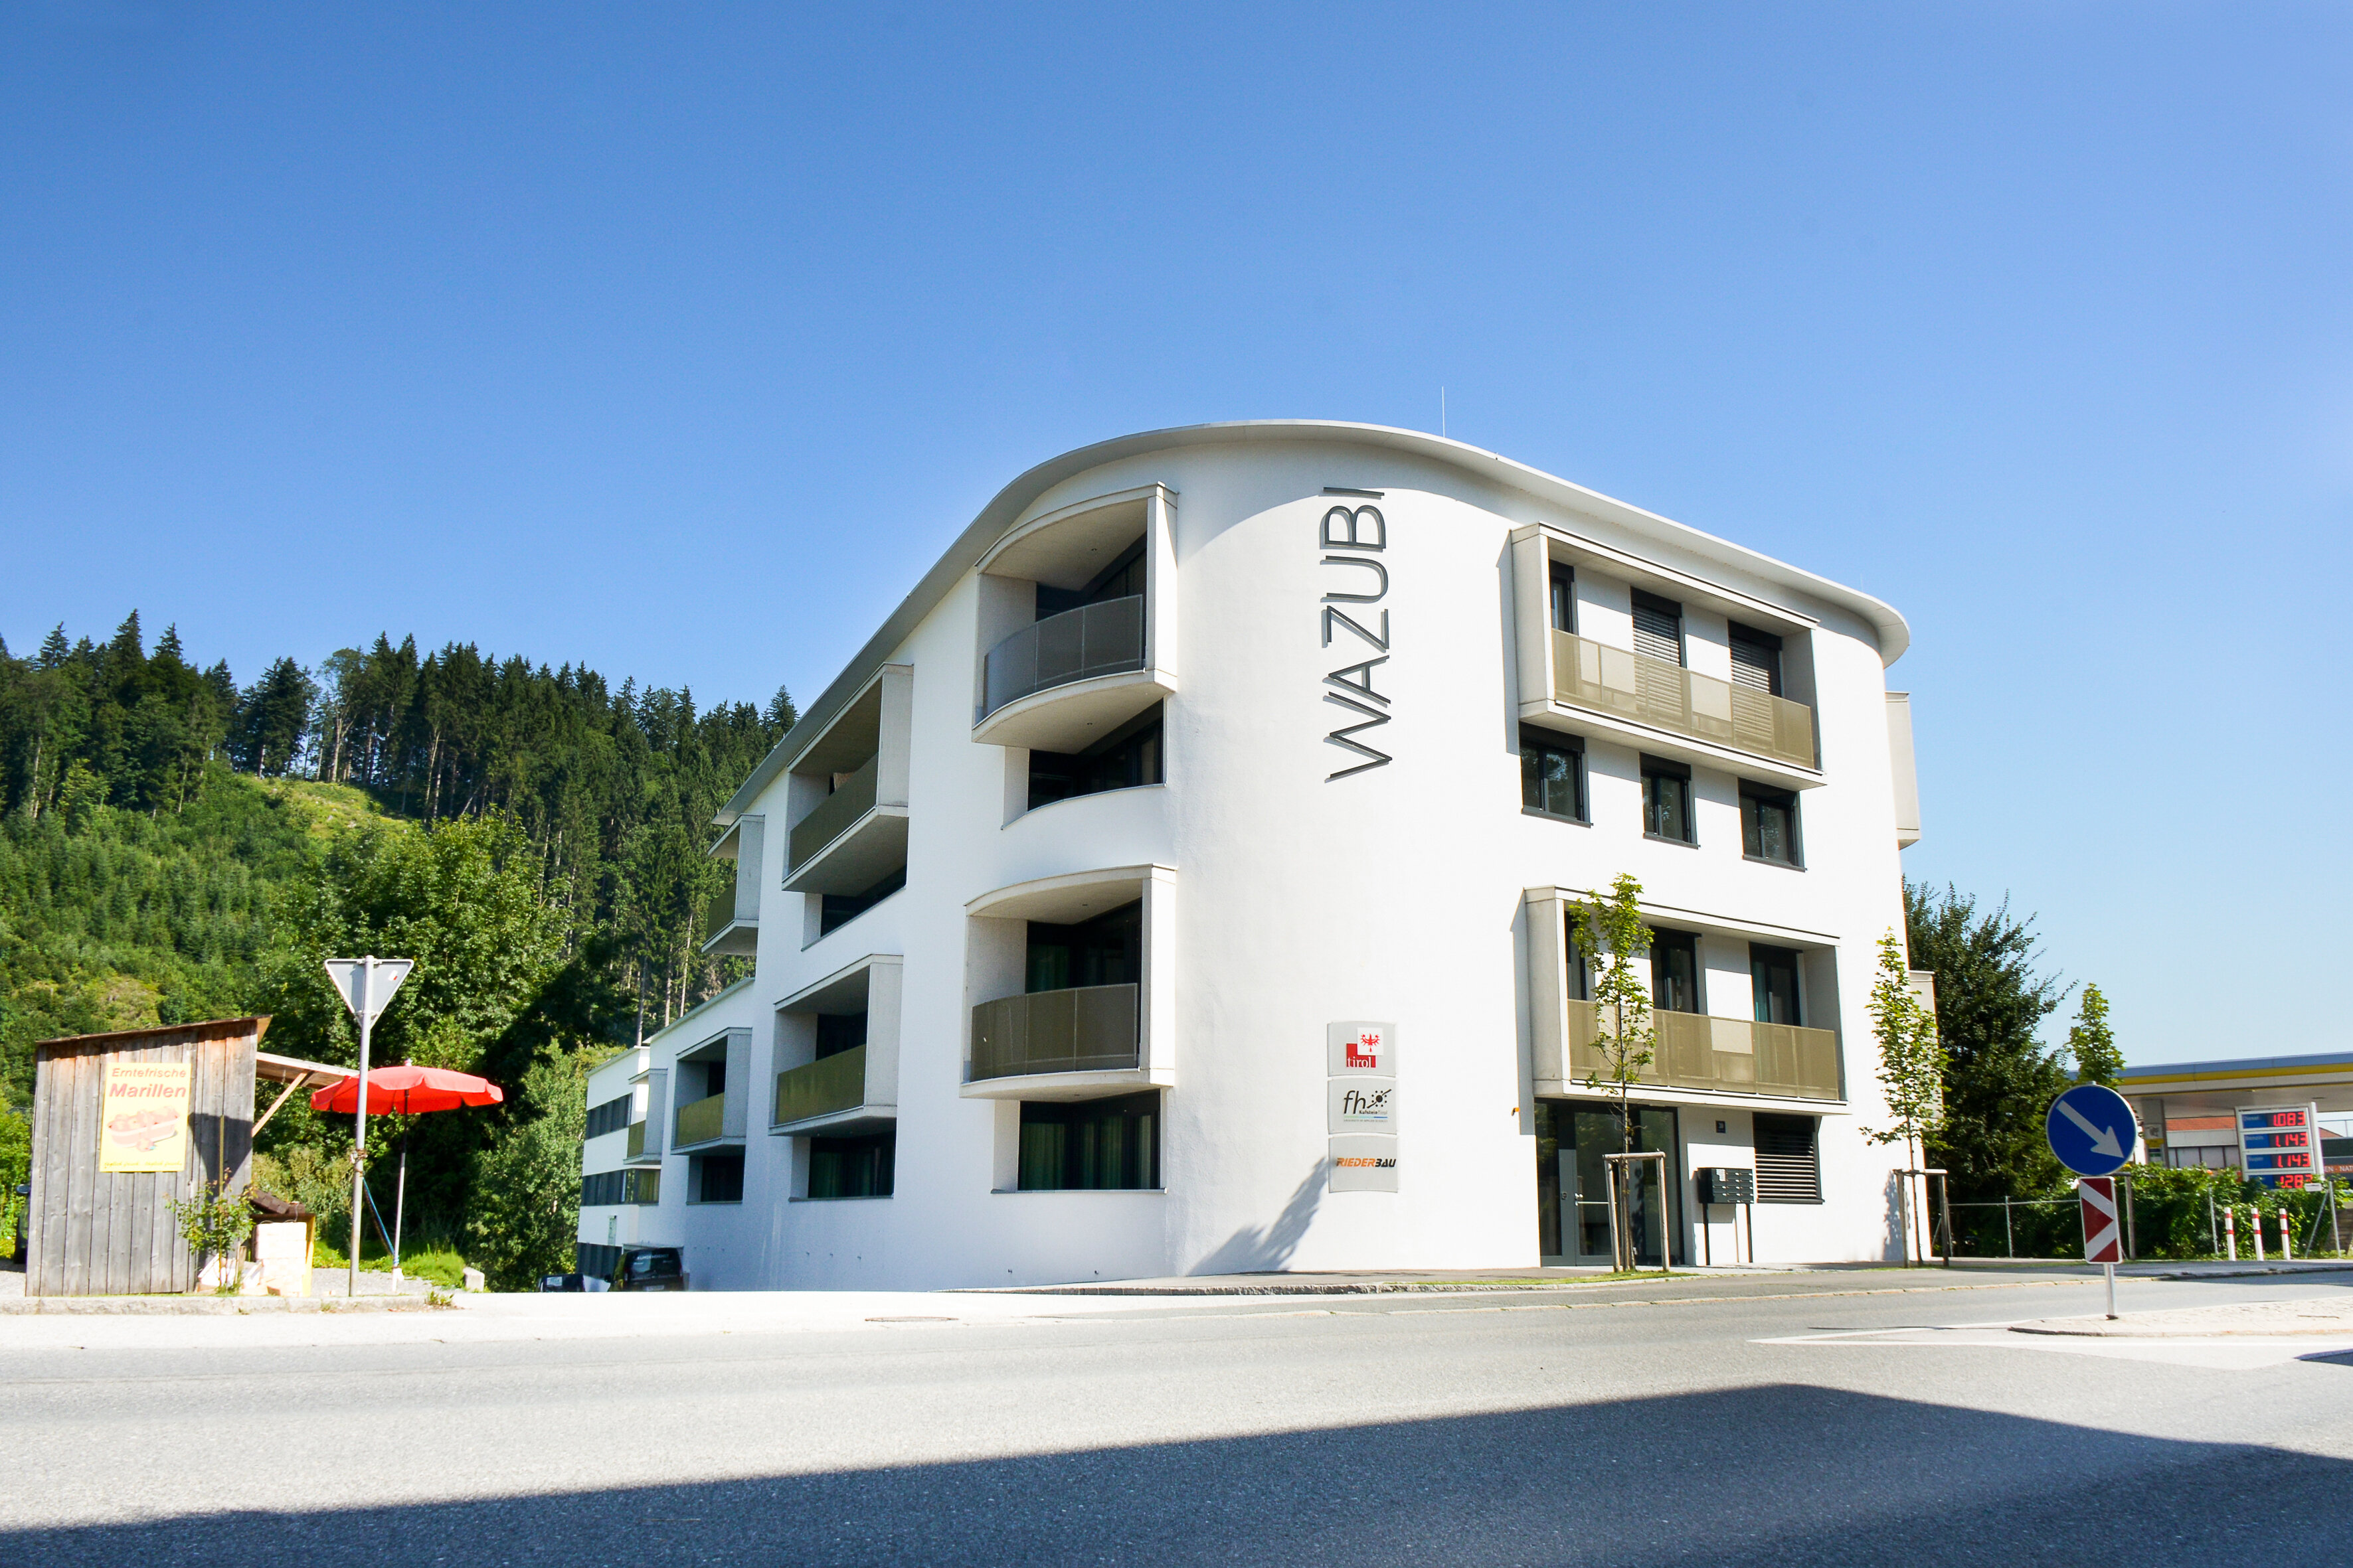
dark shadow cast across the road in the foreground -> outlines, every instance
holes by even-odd
[[[459,1458],[464,1434],[449,1443],[452,1488],[487,1481],[466,1469],[478,1455]],[[254,1462],[268,1465],[266,1443]],[[2031,1566],[2115,1542],[2092,1556],[2209,1568],[2275,1547],[2282,1519],[2334,1519],[2348,1481],[2346,1460],[1769,1385],[687,1486],[287,1500],[0,1530],[0,1563]]]

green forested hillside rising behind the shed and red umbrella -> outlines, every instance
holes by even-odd
[[[0,1105],[52,1034],[261,1011],[271,1048],[351,1060],[318,957],[360,945],[421,959],[381,1060],[520,1081],[654,1030],[729,978],[694,952],[711,816],[791,722],[781,689],[696,710],[473,644],[376,637],[242,686],[136,614],[0,644]],[[412,1173],[412,1213],[461,1225],[496,1133]],[[289,1110],[264,1147],[318,1164],[339,1135]]]

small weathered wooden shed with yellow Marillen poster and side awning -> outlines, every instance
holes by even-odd
[[[231,1192],[245,1190],[256,1074],[292,1093],[351,1072],[266,1056],[268,1027],[268,1018],[219,1018],[33,1046],[26,1295],[195,1286],[198,1260],[167,1204],[224,1173]]]

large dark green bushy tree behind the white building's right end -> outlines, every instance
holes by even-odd
[[[2066,994],[2035,973],[2033,917],[2009,903],[1979,910],[1955,889],[1906,884],[1913,969],[1937,976],[1937,1034],[1946,1051],[1944,1128],[1929,1157],[1951,1171],[1953,1199],[2028,1197],[2064,1173],[2042,1138],[2049,1103],[2073,1081],[2035,1030]]]

